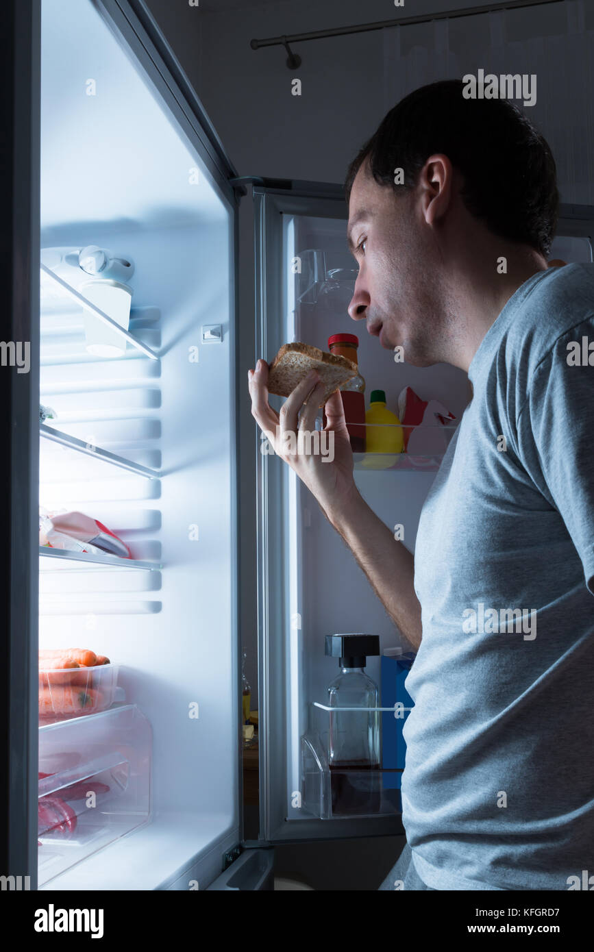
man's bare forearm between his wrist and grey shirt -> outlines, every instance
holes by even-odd
[[[321,508],[363,568],[387,614],[416,651],[422,628],[421,603],[414,590],[414,557],[394,539],[359,492],[340,510]]]

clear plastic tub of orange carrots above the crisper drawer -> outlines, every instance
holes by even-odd
[[[116,700],[118,664],[39,669],[39,724],[105,711]]]

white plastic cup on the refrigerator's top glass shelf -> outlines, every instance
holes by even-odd
[[[110,278],[96,278],[79,288],[89,299],[125,330],[129,328],[129,312],[132,290],[129,285]],[[86,348],[95,357],[122,357],[126,353],[126,338],[117,330],[101,321],[92,311],[85,310]]]

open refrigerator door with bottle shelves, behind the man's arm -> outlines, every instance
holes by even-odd
[[[342,188],[263,183],[254,188],[254,195],[256,356],[269,362],[291,342],[328,350],[333,337],[355,335],[366,406],[369,391],[381,388],[394,420],[376,426],[367,417],[367,422],[357,423],[357,431],[365,431],[366,445],[355,446],[351,433],[355,482],[394,538],[414,552],[426,495],[471,399],[467,377],[455,367],[419,368],[400,362],[397,353],[369,337],[363,322],[348,316],[357,268],[347,251]],[[561,208],[551,259],[592,260],[591,212]],[[282,398],[270,397],[272,407],[278,410],[281,404]],[[408,407],[423,412],[416,419],[408,417]],[[318,428],[324,423],[321,417],[320,411]],[[393,431],[394,448],[368,451],[372,431],[381,429]],[[387,446],[387,438],[382,440]],[[260,433],[255,456],[260,836],[283,843],[402,834],[403,725],[411,709],[405,681],[414,652],[307,488],[270,452]],[[378,692],[357,700],[356,707],[337,711],[333,679],[341,675],[337,659],[325,656],[325,639],[361,635],[379,636],[380,651],[367,658],[365,666],[365,677]],[[359,667],[344,666],[342,672],[364,676]],[[350,760],[337,763],[337,738],[357,732],[368,738],[365,756],[355,752]]]

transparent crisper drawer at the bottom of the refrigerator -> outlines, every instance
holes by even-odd
[[[40,886],[148,823],[151,745],[135,704],[39,728]]]

